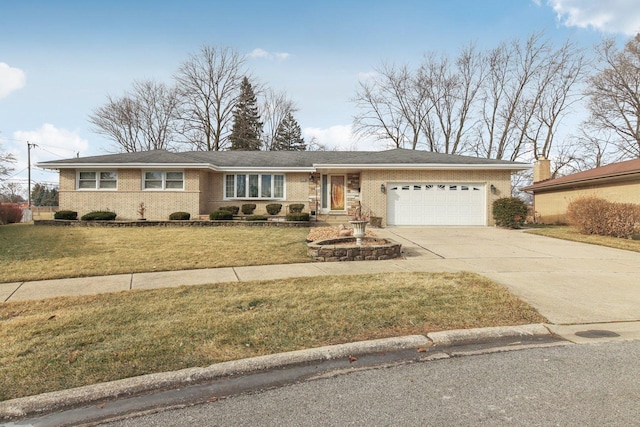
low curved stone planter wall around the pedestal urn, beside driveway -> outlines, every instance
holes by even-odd
[[[367,244],[357,246],[355,237],[320,240],[307,244],[307,253],[320,262],[383,260],[402,256],[400,243],[373,237],[364,237],[362,241]]]

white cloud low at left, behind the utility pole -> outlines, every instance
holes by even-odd
[[[23,171],[28,167],[27,162],[27,141],[35,144],[37,147],[31,149],[31,166],[38,162],[60,160],[75,157],[76,153],[82,155],[89,148],[89,142],[83,139],[78,131],[70,131],[67,129],[56,128],[54,125],[45,123],[39,129],[31,131],[15,131],[13,132],[10,151],[16,156],[17,163],[15,171]],[[20,142],[18,142],[20,141]],[[20,176],[26,176],[26,173],[19,173]],[[51,180],[50,174],[45,180]],[[40,174],[41,177],[45,176]],[[38,180],[38,176],[34,178]],[[54,180],[57,180],[55,178]]]

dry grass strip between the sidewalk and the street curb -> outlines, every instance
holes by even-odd
[[[330,276],[0,304],[0,400],[283,351],[544,322],[471,273]]]

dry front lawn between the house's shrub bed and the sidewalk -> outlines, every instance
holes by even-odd
[[[0,283],[309,262],[304,228],[0,227]]]

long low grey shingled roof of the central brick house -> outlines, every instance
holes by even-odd
[[[173,153],[153,150],[40,162],[39,167],[67,169],[79,167],[203,167],[214,170],[264,168],[309,169],[318,167],[398,168],[460,167],[488,169],[528,169],[525,163],[483,159],[421,150],[387,151],[192,151]]]

